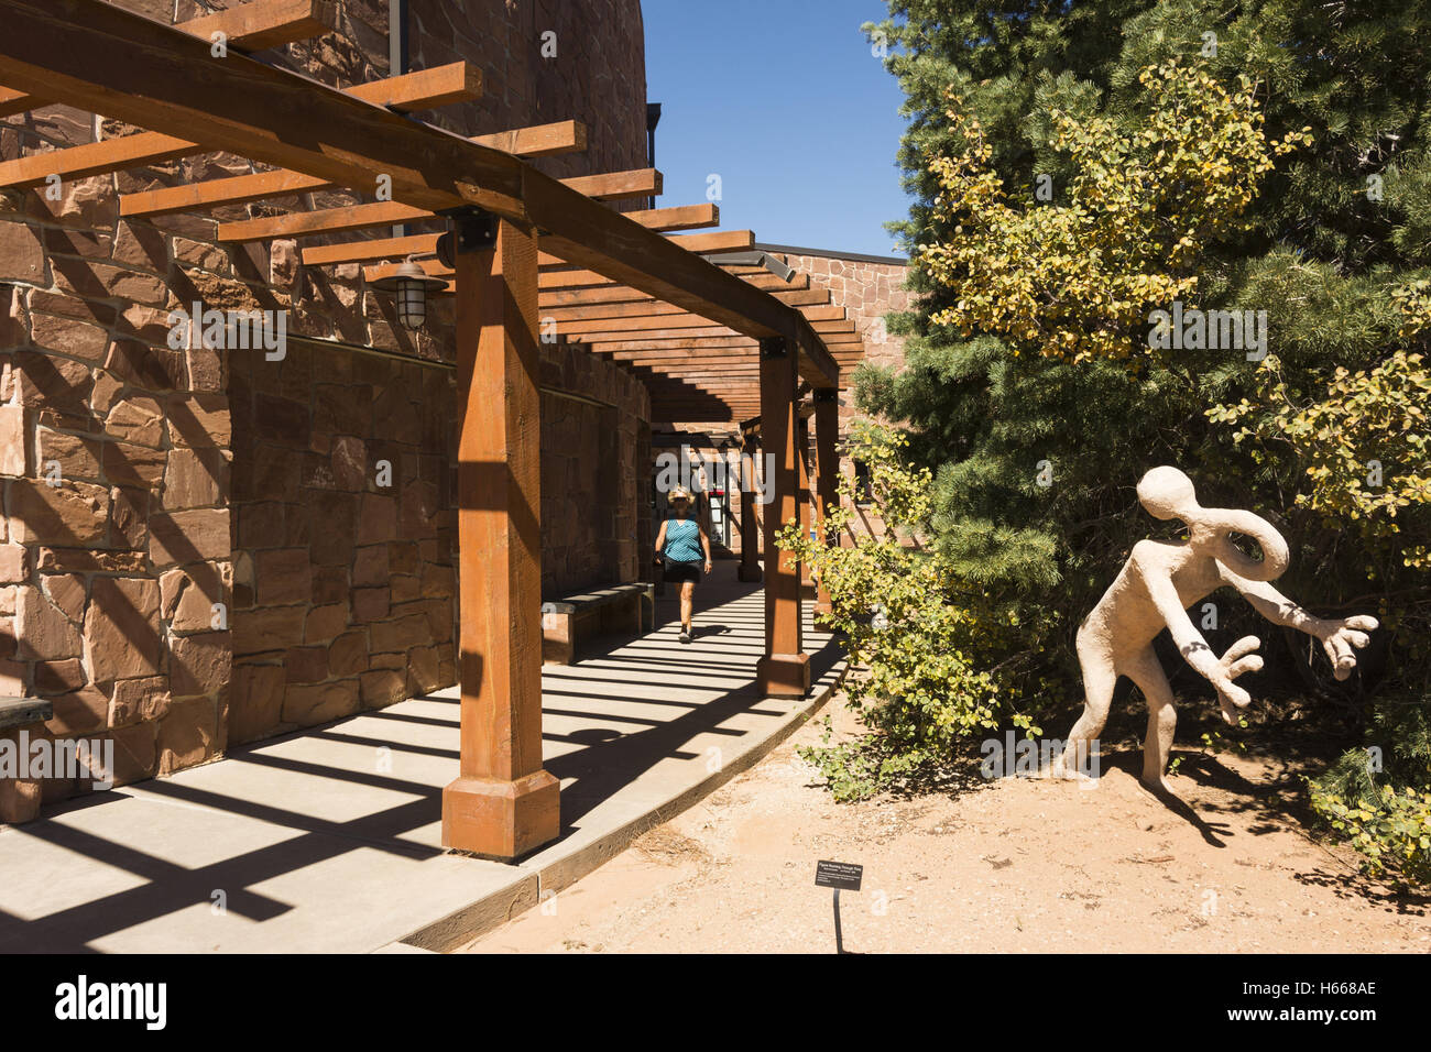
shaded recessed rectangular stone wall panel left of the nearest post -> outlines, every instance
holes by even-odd
[[[229,740],[446,687],[451,369],[322,344],[230,361]]]

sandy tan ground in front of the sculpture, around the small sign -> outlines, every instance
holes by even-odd
[[[1092,790],[1013,777],[837,804],[796,754],[820,720],[465,952],[833,952],[819,859],[864,866],[841,895],[847,952],[1431,952],[1425,902],[1304,832],[1295,769],[1175,747],[1169,804],[1129,741],[1105,744]]]

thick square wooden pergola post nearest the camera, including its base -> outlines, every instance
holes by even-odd
[[[454,236],[462,729],[442,843],[515,859],[561,829],[541,766],[537,239],[491,218]]]

